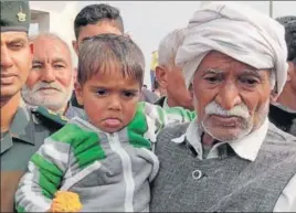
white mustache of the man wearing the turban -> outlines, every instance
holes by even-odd
[[[249,111],[246,105],[243,103],[234,106],[230,110],[225,110],[216,102],[211,102],[205,107],[205,114],[207,115],[225,116],[225,117],[236,116],[236,117],[241,117],[243,119],[247,119],[250,117],[250,111]]]

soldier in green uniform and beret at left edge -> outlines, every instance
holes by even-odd
[[[21,99],[33,52],[29,2],[1,1],[0,22],[1,212],[13,212],[14,192],[31,156],[66,119],[42,107],[29,108]]]

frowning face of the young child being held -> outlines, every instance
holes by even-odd
[[[94,75],[82,86],[75,86],[80,104],[88,120],[106,132],[115,132],[134,118],[141,85],[131,77],[124,77],[116,65],[110,71]]]

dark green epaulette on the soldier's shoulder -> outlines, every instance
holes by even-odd
[[[47,109],[43,106],[38,106],[38,107],[32,107],[31,111],[36,115],[40,119],[45,119],[47,121],[52,121],[54,124],[57,124],[60,126],[64,126],[68,119],[63,116],[60,115],[51,109]]]

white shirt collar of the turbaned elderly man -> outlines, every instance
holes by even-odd
[[[235,151],[235,153],[246,160],[254,161],[257,157],[258,150],[265,139],[265,136],[268,130],[268,118],[265,119],[263,125],[253,131],[252,134],[247,135],[241,140],[235,140],[230,142],[229,145],[231,148]],[[202,131],[200,130],[199,124],[197,120],[192,120],[186,134],[183,134],[179,138],[173,138],[172,141],[180,143],[183,142],[186,139],[187,141],[194,148],[194,150],[198,153],[198,157],[202,159],[202,143],[201,143],[201,135]],[[214,158],[214,155],[211,155],[213,152],[216,152],[218,147],[224,145],[225,142],[219,142],[214,145],[209,153],[208,158]]]

